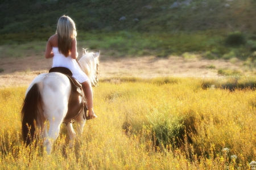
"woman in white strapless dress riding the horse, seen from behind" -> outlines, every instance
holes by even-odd
[[[53,57],[52,67],[67,67],[72,71],[73,77],[82,84],[87,99],[88,116],[96,118],[93,112],[92,86],[88,76],[80,69],[76,61],[78,56],[76,35],[75,22],[69,16],[61,16],[57,23],[56,34],[51,36],[47,42],[45,57]]]

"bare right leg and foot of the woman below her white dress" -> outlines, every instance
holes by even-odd
[[[92,86],[89,83],[89,80],[86,82],[81,83],[82,88],[84,90],[85,97],[87,99],[87,105],[88,105],[88,116],[95,118],[97,117],[93,112],[93,93],[92,93]]]

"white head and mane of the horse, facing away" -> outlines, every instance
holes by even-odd
[[[93,86],[98,84],[98,57],[100,56],[100,51],[98,52],[87,52],[86,49],[82,49],[82,57],[79,59],[79,63],[82,71],[88,76],[90,82]]]

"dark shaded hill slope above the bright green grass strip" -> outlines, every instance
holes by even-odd
[[[255,5],[253,0],[1,0],[0,33],[52,33],[63,14],[71,16],[82,32],[217,29],[254,33]]]

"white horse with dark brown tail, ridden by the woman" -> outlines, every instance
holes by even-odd
[[[94,86],[98,83],[99,56],[100,51],[89,53],[83,49],[83,55],[78,61],[82,71]],[[44,139],[47,153],[51,153],[53,142],[59,136],[61,123],[68,111],[70,95],[71,82],[64,74],[43,73],[32,80],[26,90],[22,106],[22,134],[23,141],[27,146],[34,141],[36,128],[38,128],[40,137]],[[80,112],[84,112],[84,109],[81,109]],[[79,114],[75,121],[79,124],[79,134],[81,134],[85,124],[84,114]],[[47,123],[49,124],[48,131]],[[73,130],[72,122],[65,122],[65,124],[70,139],[69,147],[72,147],[76,133]]]

